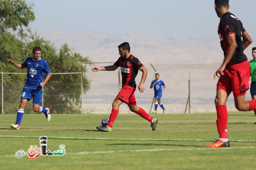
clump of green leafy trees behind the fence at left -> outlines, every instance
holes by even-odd
[[[52,73],[85,73],[86,66],[82,63],[90,63],[88,57],[82,57],[67,44],[56,51],[50,41],[28,29],[30,21],[35,18],[32,7],[33,4],[28,5],[24,0],[0,0],[0,72],[26,73],[26,69],[18,69],[7,63],[6,59],[23,63],[27,57],[32,56],[32,48],[39,46],[42,49],[42,58],[48,61]],[[16,113],[25,82],[24,74],[4,74],[4,110],[8,113]],[[83,93],[90,89],[90,80],[85,74],[53,74],[44,87],[44,106],[50,106],[52,113],[79,113],[81,86]],[[1,104],[2,102],[0,108],[3,107]],[[61,109],[58,107],[60,104]],[[32,106],[32,102],[27,107],[30,105]],[[27,109],[26,113],[34,112]]]

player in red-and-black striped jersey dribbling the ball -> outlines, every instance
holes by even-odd
[[[122,89],[112,103],[112,111],[109,117],[108,125],[106,127],[100,126],[96,128],[100,131],[112,131],[113,123],[118,115],[119,106],[122,103],[125,103],[129,106],[130,111],[140,115],[144,119],[147,119],[151,123],[152,131],[155,131],[158,119],[151,117],[150,115],[148,115],[148,113],[146,113],[146,111],[144,111],[144,109],[138,107],[136,105],[136,98],[134,96],[134,92],[136,90],[135,78],[138,74],[138,70],[142,72],[142,78],[138,86],[138,89],[141,93],[145,90],[144,82],[146,80],[148,71],[136,57],[130,54],[129,43],[125,42],[120,44],[118,46],[118,51],[120,57],[112,66],[92,67],[92,71],[96,72],[99,70],[113,71],[120,66],[122,74]]]

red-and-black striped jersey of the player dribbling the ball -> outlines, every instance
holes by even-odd
[[[139,68],[144,65],[140,63],[140,61],[133,55],[130,55],[127,59],[119,57],[115,65],[120,66],[122,74],[122,86],[128,85],[131,87],[136,87],[135,78],[138,74]]]

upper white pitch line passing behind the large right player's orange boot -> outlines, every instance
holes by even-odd
[[[11,138],[40,138],[36,136],[0,136]],[[126,138],[86,138],[86,137],[47,137],[48,139],[75,139],[75,140],[106,140],[106,141],[209,141],[204,139],[126,139]],[[214,141],[214,140],[212,140]],[[233,140],[230,142],[256,142],[255,140]]]

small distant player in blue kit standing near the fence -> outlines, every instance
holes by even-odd
[[[160,107],[162,107],[163,113],[166,111],[166,108],[164,108],[161,102],[162,90],[165,89],[165,84],[159,78],[160,78],[160,75],[156,73],[156,80],[153,80],[150,84],[150,88],[154,87],[154,92],[155,92],[155,110],[152,113],[156,113],[158,104],[160,105]]]

